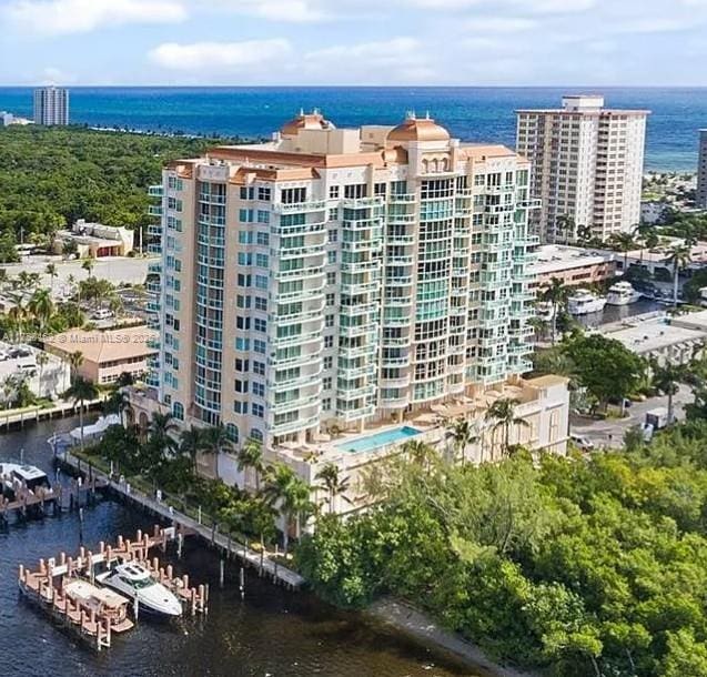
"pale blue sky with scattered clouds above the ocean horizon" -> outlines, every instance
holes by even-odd
[[[0,84],[707,85],[707,0],[0,0]]]

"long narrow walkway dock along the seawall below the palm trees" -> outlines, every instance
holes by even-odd
[[[255,568],[262,576],[271,578],[274,583],[285,586],[289,589],[300,589],[305,580],[300,574],[282,566],[263,553],[249,548],[245,544],[234,542],[230,536],[225,536],[215,527],[208,527],[199,519],[184,515],[174,509],[168,503],[156,501],[151,496],[135,489],[127,482],[117,482],[108,477],[104,473],[95,468],[87,468],[87,463],[74,456],[68,448],[55,452],[55,458],[77,473],[91,473],[93,479],[101,486],[113,492],[121,499],[140,506],[143,511],[172,524],[183,534],[193,534],[205,540],[218,549],[226,558],[240,559],[244,565]]]

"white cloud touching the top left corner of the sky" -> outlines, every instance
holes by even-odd
[[[186,19],[186,9],[179,0],[11,0],[2,14],[18,30],[52,36],[127,23],[173,23]]]

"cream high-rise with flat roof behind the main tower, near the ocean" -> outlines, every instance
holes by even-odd
[[[533,163],[532,225],[548,243],[607,240],[640,221],[649,111],[610,110],[603,97],[565,97],[559,110],[519,110],[517,152]]]

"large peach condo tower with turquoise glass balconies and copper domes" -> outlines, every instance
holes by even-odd
[[[160,403],[270,447],[527,372],[529,169],[428,118],[316,112],[172,163],[153,190]]]

